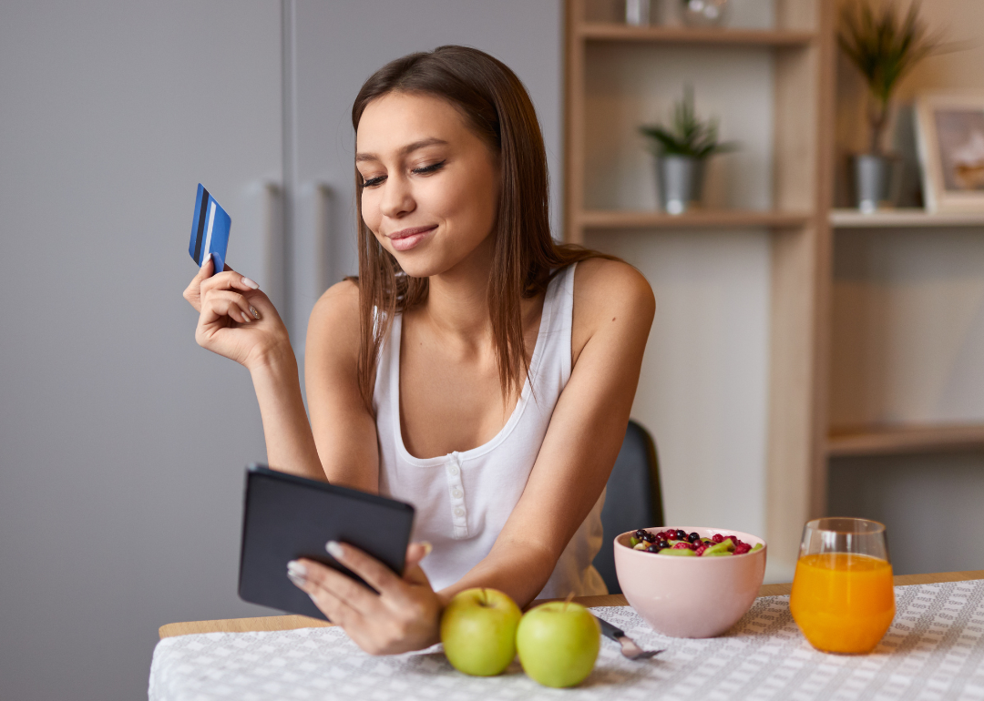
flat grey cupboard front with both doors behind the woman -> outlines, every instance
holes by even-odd
[[[390,58],[493,51],[533,90],[557,167],[560,0],[301,2],[297,16],[297,182],[336,191],[335,276],[354,271],[344,115]],[[268,282],[280,18],[276,0],[0,4],[5,700],[140,698],[159,625],[272,613],[235,593],[242,468],[265,455],[252,386],[195,344],[180,293],[198,182],[232,215],[229,263]],[[319,284],[303,204],[301,328]]]

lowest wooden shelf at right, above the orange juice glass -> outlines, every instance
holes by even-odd
[[[984,424],[910,424],[831,431],[829,457],[984,450]]]

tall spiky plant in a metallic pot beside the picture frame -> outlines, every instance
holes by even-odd
[[[853,156],[858,208],[872,212],[892,205],[898,159],[885,151],[883,142],[898,82],[938,46],[919,20],[919,0],[913,0],[904,17],[892,3],[876,14],[869,0],[841,10],[837,43],[868,84],[868,150]]]

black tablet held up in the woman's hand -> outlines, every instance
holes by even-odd
[[[328,541],[348,543],[402,573],[413,526],[413,507],[327,482],[246,469],[239,596],[287,613],[327,619],[306,593],[287,579],[287,562],[324,562],[358,581],[325,552]]]

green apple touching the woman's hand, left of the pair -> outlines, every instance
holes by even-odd
[[[523,612],[497,589],[465,589],[441,614],[444,654],[455,669],[475,676],[502,673],[516,657]]]

